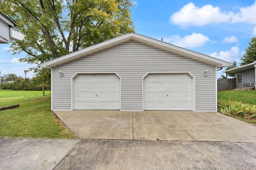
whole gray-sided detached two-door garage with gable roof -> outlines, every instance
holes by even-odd
[[[217,111],[225,66],[133,32],[40,64],[51,69],[52,110],[121,111]]]

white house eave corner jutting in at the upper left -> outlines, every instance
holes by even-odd
[[[0,44],[7,44],[10,41],[22,40],[24,34],[16,31],[16,24],[0,12]]]

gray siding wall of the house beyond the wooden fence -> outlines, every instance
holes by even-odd
[[[252,88],[253,86],[255,86],[255,81],[254,81],[255,68],[236,72],[235,73],[236,77],[237,77],[237,74],[243,74],[243,84],[236,84],[236,88]],[[244,86],[244,83],[253,83],[253,86]]]

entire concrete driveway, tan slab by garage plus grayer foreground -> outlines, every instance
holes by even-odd
[[[0,170],[255,170],[256,167],[256,126],[220,113],[56,111],[56,114],[84,139],[0,138]]]

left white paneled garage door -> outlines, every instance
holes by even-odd
[[[76,76],[74,109],[120,109],[120,78],[116,74]]]

